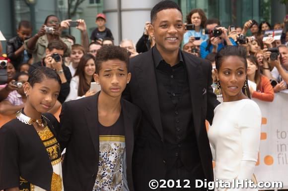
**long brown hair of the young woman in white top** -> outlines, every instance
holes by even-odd
[[[79,61],[77,70],[74,75],[74,76],[79,76],[78,96],[83,96],[90,88],[90,84],[87,83],[87,80],[84,74],[85,65],[90,59],[93,59],[93,61],[95,62],[95,57],[92,54],[87,53],[83,55]],[[92,81],[93,81],[93,78],[92,78]]]

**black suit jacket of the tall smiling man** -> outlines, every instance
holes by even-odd
[[[212,65],[207,60],[192,54],[183,51],[181,53],[187,69],[200,159],[205,178],[207,181],[213,181],[212,154],[205,127],[205,119],[212,123],[214,108],[218,104],[211,88]],[[163,179],[166,173],[163,129],[152,49],[131,59],[129,70],[132,78],[124,92],[124,98],[142,110],[141,125],[139,131],[135,133],[133,180],[136,191],[148,191],[149,180]]]

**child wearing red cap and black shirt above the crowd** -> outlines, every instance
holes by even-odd
[[[91,34],[91,41],[94,42],[96,39],[110,38],[114,40],[111,30],[108,29],[106,24],[106,16],[103,13],[99,13],[96,16],[96,25],[98,26]]]

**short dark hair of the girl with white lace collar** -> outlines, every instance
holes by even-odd
[[[39,67],[31,72],[28,78],[28,83],[33,87],[35,83],[41,83],[47,79],[56,80],[61,86],[61,79],[55,70],[47,67]]]

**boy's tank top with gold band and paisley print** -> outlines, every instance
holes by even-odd
[[[99,162],[93,191],[128,191],[124,118],[110,127],[99,127]]]

